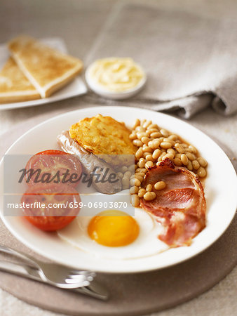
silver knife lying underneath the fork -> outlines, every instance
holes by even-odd
[[[20,277],[27,277],[27,279],[34,279],[38,282],[43,282],[45,284],[53,285],[52,283],[41,278],[39,270],[33,268],[27,264],[12,263],[9,261],[0,261],[0,270],[4,272],[10,272]],[[102,301],[107,301],[109,294],[107,289],[105,289],[100,283],[93,280],[86,287],[79,287],[78,289],[62,289],[62,291],[72,291],[77,294],[84,294],[86,296],[91,296],[93,298],[98,298]]]

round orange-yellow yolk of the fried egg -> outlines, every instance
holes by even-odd
[[[138,234],[136,220],[123,211],[102,211],[88,225],[90,238],[103,246],[126,246],[134,242]]]

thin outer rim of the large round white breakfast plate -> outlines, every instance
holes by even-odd
[[[100,110],[102,111],[106,111],[106,112],[109,112],[109,109],[112,108],[113,110],[128,110],[128,109],[133,109],[133,110],[140,110],[141,112],[155,112],[156,114],[158,115],[161,115],[161,117],[171,117],[172,119],[174,119],[175,121],[179,121],[179,122],[182,122],[182,124],[184,124],[184,126],[189,126],[191,127],[191,129],[194,129],[195,131],[198,131],[198,133],[201,133],[202,136],[205,136],[205,138],[208,138],[208,140],[210,140],[212,143],[214,143],[217,147],[219,147],[219,150],[222,151],[222,153],[224,154],[224,156],[226,157],[226,159],[228,160],[229,162],[229,166],[231,167],[231,171],[233,173],[236,174],[236,171],[233,167],[233,164],[231,163],[231,160],[229,159],[229,157],[226,155],[226,153],[224,152],[224,150],[222,150],[222,148],[214,141],[212,140],[212,138],[210,138],[210,136],[208,136],[207,134],[205,134],[203,131],[201,131],[200,129],[197,129],[195,126],[189,124],[188,122],[186,121],[182,121],[181,119],[178,119],[177,117],[172,117],[171,115],[169,114],[164,114],[164,113],[161,113],[161,112],[156,112],[154,110],[147,110],[147,109],[142,109],[140,107],[126,107],[126,106],[99,106],[99,107],[83,107],[81,109],[77,109],[77,110],[73,110],[73,111],[68,111],[68,112],[64,112],[64,113],[61,113],[61,114],[58,114],[57,116],[55,117],[50,117],[49,119],[46,119],[46,121],[42,121],[41,123],[39,124],[36,124],[36,126],[33,126],[31,129],[29,129],[28,131],[26,131],[25,133],[22,134],[22,136],[20,136],[17,140],[15,140],[15,142],[10,146],[8,147],[8,150],[6,150],[5,154],[7,154],[11,149],[12,147],[14,147],[14,145],[16,143],[18,143],[19,140],[21,140],[22,138],[24,138],[28,133],[31,133],[32,131],[34,131],[34,129],[38,128],[39,126],[43,125],[43,124],[46,124],[50,121],[53,121],[55,119],[59,119],[60,117],[64,117],[65,114],[73,114],[75,112],[90,112],[90,111],[95,111],[95,112],[100,112]],[[86,114],[88,115],[88,114]],[[95,114],[94,114],[95,115]],[[4,155],[5,155],[4,154]],[[0,162],[0,166],[1,164],[3,163],[3,160],[4,160],[4,157],[2,157],[1,159],[1,162]],[[236,187],[237,187],[237,179],[236,179]],[[179,259],[178,261],[174,262],[174,263],[170,263],[170,264],[166,264],[166,265],[163,265],[161,267],[149,267],[149,268],[137,268],[137,269],[130,269],[130,270],[107,270],[107,269],[104,269],[104,270],[97,270],[97,272],[106,272],[106,273],[137,273],[137,272],[148,272],[148,271],[152,271],[152,270],[159,270],[159,269],[163,269],[163,268],[168,268],[172,265],[177,265],[179,263],[182,263],[184,261],[187,261],[191,258],[193,258],[194,256],[197,256],[198,254],[201,254],[201,252],[205,251],[205,249],[208,249],[213,243],[215,243],[217,241],[217,239],[219,239],[219,237],[221,237],[224,232],[227,230],[227,228],[229,228],[229,225],[231,224],[231,221],[233,220],[233,217],[235,216],[235,211],[233,211],[232,215],[231,215],[231,218],[229,218],[229,222],[228,222],[228,225],[226,225],[226,227],[224,228],[224,230],[222,230],[222,232],[217,236],[215,237],[214,240],[212,240],[212,242],[210,243],[207,243],[205,244],[205,246],[203,246],[203,248],[201,250],[198,250],[196,251],[196,253],[194,254],[191,254],[191,256],[189,255],[187,258],[184,256],[184,258],[182,259]],[[39,250],[39,249],[36,249],[34,245],[32,245],[30,242],[28,242],[28,240],[24,239],[24,237],[22,238],[18,232],[15,232],[15,230],[13,230],[13,228],[11,227],[11,223],[8,223],[8,221],[6,220],[6,218],[4,217],[4,214],[2,213],[1,209],[0,209],[0,217],[1,219],[3,220],[4,222],[4,225],[6,225],[6,228],[8,228],[8,230],[20,241],[20,242],[24,242],[24,244],[26,246],[29,247],[29,249],[32,249],[33,251],[35,251],[37,254],[40,254],[41,256],[44,256],[46,258],[49,258],[50,260],[53,260],[55,262],[58,262],[58,263],[62,263],[62,264],[65,264],[65,262],[62,262],[60,259],[55,259],[55,257],[53,256],[49,256],[48,254],[46,254],[43,250]],[[11,217],[11,216],[7,216],[7,217]],[[180,247],[182,248],[182,247]],[[177,249],[177,248],[176,248]],[[74,265],[72,265],[74,266]],[[96,269],[95,269],[96,270]]]

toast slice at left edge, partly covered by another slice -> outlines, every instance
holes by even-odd
[[[25,77],[13,58],[9,58],[0,72],[0,103],[39,98],[41,98],[39,92]]]

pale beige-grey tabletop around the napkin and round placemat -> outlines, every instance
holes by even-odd
[[[117,0],[118,1],[118,0]],[[0,1],[0,44],[8,41],[20,33],[27,33],[34,37],[62,37],[72,55],[86,58],[86,54],[93,45],[93,41],[104,21],[109,15],[116,0],[8,0]],[[132,2],[137,2],[131,0]],[[140,1],[140,0],[139,0]],[[141,2],[141,1],[140,1]],[[143,1],[144,3],[144,1]],[[161,8],[196,11],[198,14],[222,18],[223,15],[236,19],[236,1],[146,1],[147,5]],[[48,114],[67,112],[86,107],[83,98],[63,100],[55,104],[0,112],[0,133],[9,131],[18,123]],[[207,133],[229,154],[231,159],[237,157],[237,115],[222,117],[212,109],[197,114],[190,121]],[[11,144],[9,144],[11,145]],[[235,160],[232,160],[236,164]],[[154,315],[235,315],[237,268],[235,268],[222,282],[210,291],[194,298],[188,303],[165,310]],[[56,315],[41,310],[18,300],[0,289],[0,315]]]

